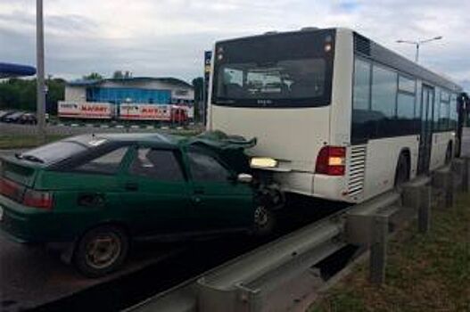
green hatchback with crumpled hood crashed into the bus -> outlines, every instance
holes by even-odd
[[[268,234],[247,141],[214,135],[79,135],[3,158],[0,229],[61,246],[88,276],[120,267],[134,240]]]

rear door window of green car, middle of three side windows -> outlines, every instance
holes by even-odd
[[[129,172],[136,176],[152,177],[161,181],[184,180],[175,152],[169,150],[139,148]]]

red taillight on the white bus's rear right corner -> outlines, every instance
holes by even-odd
[[[318,152],[315,172],[327,176],[344,176],[346,169],[346,148],[324,146]]]

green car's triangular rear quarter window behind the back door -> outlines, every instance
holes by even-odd
[[[88,173],[115,174],[120,168],[120,163],[128,152],[128,147],[120,147],[111,152],[107,152],[93,160],[89,160],[83,165],[75,168],[75,171],[85,171]]]

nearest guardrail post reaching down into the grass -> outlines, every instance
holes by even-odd
[[[372,233],[375,240],[370,246],[370,282],[380,285],[385,281],[385,265],[387,262],[388,218],[374,216]]]

